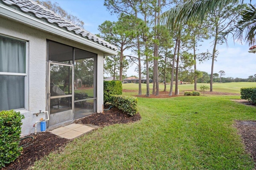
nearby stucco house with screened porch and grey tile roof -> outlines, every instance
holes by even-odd
[[[50,113],[52,129],[102,112],[104,57],[116,50],[32,0],[0,0],[0,111],[25,116],[22,136],[44,118],[36,115],[40,110]],[[88,90],[80,98],[74,94],[78,80]],[[86,108],[78,108],[81,102]]]

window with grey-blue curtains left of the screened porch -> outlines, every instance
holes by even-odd
[[[26,41],[0,36],[0,111],[25,108]]]

